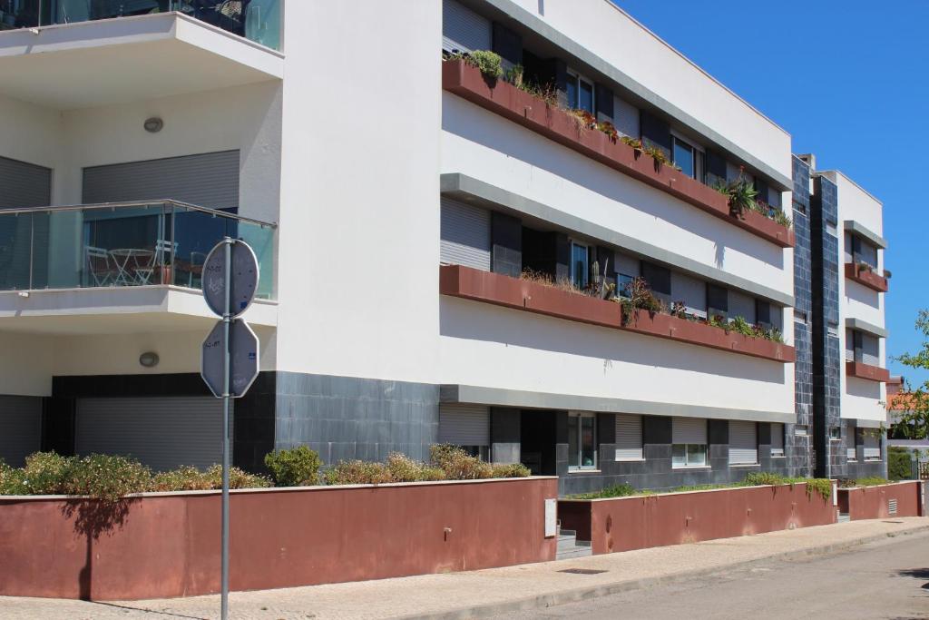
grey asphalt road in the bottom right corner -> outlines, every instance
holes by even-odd
[[[579,575],[582,578],[582,575]],[[929,618],[929,535],[497,618]]]

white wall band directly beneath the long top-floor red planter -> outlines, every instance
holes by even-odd
[[[462,173],[701,263],[793,293],[792,249],[600,165],[451,93],[441,171]]]

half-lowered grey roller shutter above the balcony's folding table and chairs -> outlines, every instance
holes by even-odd
[[[239,152],[208,152],[84,169],[85,204],[164,198],[212,209],[239,208]]]

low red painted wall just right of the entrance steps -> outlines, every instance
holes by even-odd
[[[558,502],[561,527],[589,539],[594,553],[826,525],[835,512],[805,484]]]

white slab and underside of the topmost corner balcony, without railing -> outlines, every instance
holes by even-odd
[[[177,13],[0,33],[0,95],[56,110],[282,76],[280,53]]]

